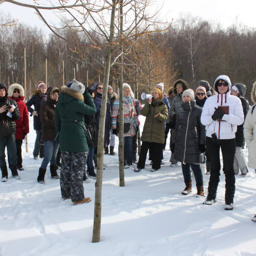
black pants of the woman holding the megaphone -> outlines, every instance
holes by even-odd
[[[153,162],[153,169],[160,169],[161,167],[161,155],[162,155],[162,144],[155,142],[143,141],[140,148],[139,161],[137,167],[140,169],[145,168],[145,162],[147,158],[147,151],[150,150],[151,160]]]

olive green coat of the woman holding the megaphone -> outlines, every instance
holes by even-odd
[[[162,100],[155,106],[154,101],[152,103],[148,104],[147,102],[141,110],[141,115],[146,117],[141,141],[163,144],[165,143],[165,126],[163,125],[163,122],[168,117],[168,109]],[[154,117],[157,113],[160,113],[160,115]]]

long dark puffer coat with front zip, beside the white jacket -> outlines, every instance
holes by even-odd
[[[174,159],[182,163],[200,163],[199,144],[205,144],[205,127],[201,124],[202,109],[195,101],[183,102],[177,112]]]

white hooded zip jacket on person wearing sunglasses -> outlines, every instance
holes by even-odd
[[[216,82],[218,80],[224,80],[229,84],[227,93],[218,93],[216,88]],[[201,123],[205,125],[206,136],[211,138],[211,134],[216,133],[218,139],[236,138],[237,125],[244,123],[244,111],[241,101],[238,97],[230,94],[231,82],[226,75],[217,77],[214,82],[214,89],[215,95],[205,101],[201,115]],[[211,116],[214,114],[215,108],[218,108],[219,105],[229,106],[229,114],[225,114],[221,121],[214,121]]]

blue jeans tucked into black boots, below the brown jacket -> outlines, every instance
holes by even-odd
[[[60,144],[57,143],[56,141],[44,141],[45,157],[44,159],[42,159],[40,168],[46,169],[50,161],[50,165],[56,165],[56,157],[59,150],[59,146]]]

